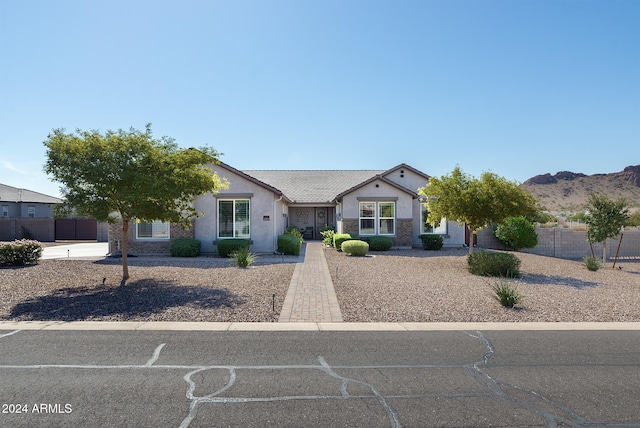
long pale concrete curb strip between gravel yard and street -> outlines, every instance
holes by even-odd
[[[451,323],[259,323],[259,322],[166,322],[166,321],[0,321],[0,330],[85,331],[640,331],[640,322],[451,322]]]

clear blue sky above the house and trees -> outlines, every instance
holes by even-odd
[[[640,0],[0,0],[0,183],[54,128],[144,129],[238,169],[640,164]]]

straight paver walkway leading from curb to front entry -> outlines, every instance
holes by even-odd
[[[322,245],[304,244],[304,262],[293,271],[279,322],[342,322]]]

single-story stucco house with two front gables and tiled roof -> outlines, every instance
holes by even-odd
[[[288,227],[322,239],[326,227],[361,237],[389,236],[398,248],[420,247],[420,235],[442,235],[445,246],[463,246],[465,227],[443,221],[432,228],[417,193],[429,176],[406,164],[378,170],[252,170],[225,163],[209,165],[229,182],[228,189],[195,198],[202,216],[189,230],[162,222],[132,222],[129,253],[168,254],[172,239],[193,237],[202,252],[215,253],[222,239],[246,238],[258,253],[277,251],[277,238]],[[110,252],[120,249],[121,227],[110,228]]]

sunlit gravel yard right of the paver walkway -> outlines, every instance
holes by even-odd
[[[515,253],[524,301],[493,297],[496,279],[467,271],[468,249],[399,250],[349,257],[325,249],[346,322],[640,321],[640,261],[587,270],[580,261]],[[621,269],[618,269],[618,266]]]

